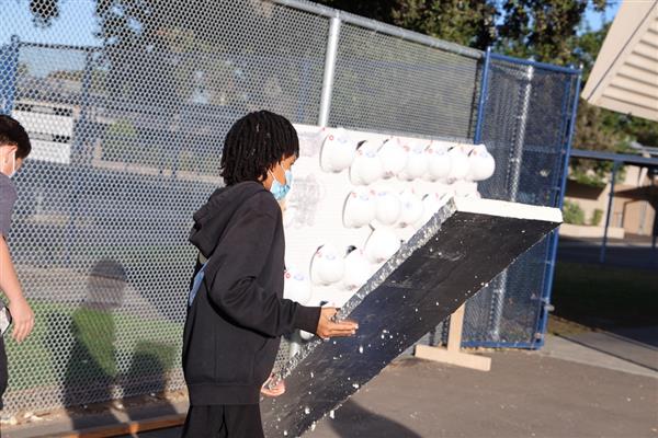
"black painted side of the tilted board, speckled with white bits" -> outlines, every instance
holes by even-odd
[[[311,342],[288,364],[285,394],[261,404],[265,436],[313,428],[558,224],[451,201],[343,307],[358,335]]]

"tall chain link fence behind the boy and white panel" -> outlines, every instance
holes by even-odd
[[[34,146],[9,241],[37,319],[24,345],[8,342],[7,412],[184,385],[192,212],[249,111],[479,136],[498,164],[486,196],[559,199],[574,72],[491,57],[487,76],[480,51],[293,0],[18,0],[0,13],[0,108]],[[535,345],[551,245],[469,302],[467,343]]]

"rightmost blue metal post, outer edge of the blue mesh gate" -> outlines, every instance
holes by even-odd
[[[567,138],[565,141],[565,145],[563,147],[563,173],[561,173],[561,180],[560,180],[560,184],[559,184],[559,194],[557,197],[557,207],[561,210],[564,201],[565,201],[565,194],[566,194],[566,189],[567,189],[567,177],[569,175],[569,159],[571,155],[571,141],[574,139],[574,131],[576,130],[576,116],[578,114],[578,100],[580,99],[580,79],[581,79],[581,70],[578,70],[577,72],[577,78],[576,78],[576,87],[575,87],[575,93],[574,93],[574,102],[571,104],[571,114],[570,114],[570,120],[569,120],[569,125],[568,125],[568,134],[567,134]],[[553,241],[551,242],[551,262],[548,264],[548,269],[546,272],[546,278],[545,278],[545,289],[544,289],[544,296],[542,297],[542,301],[543,301],[543,307],[542,307],[542,311],[541,311],[541,315],[540,315],[540,321],[537,324],[537,332],[538,334],[541,334],[542,336],[538,339],[535,339],[535,343],[533,344],[533,348],[541,348],[542,346],[544,346],[544,334],[546,333],[546,326],[548,324],[548,311],[551,310],[551,293],[553,291],[553,279],[555,277],[555,262],[557,260],[557,244],[559,242],[559,232],[558,231],[554,231],[553,232]]]

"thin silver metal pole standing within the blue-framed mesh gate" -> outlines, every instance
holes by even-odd
[[[523,100],[521,107],[521,116],[519,118],[519,131],[517,134],[517,141],[512,150],[512,157],[510,159],[512,165],[512,174],[510,177],[510,199],[512,203],[517,201],[519,195],[519,182],[521,180],[521,164],[523,162],[523,146],[525,145],[525,129],[527,127],[527,113],[530,111],[530,100],[532,96],[532,80],[534,77],[534,65],[530,64],[526,68],[525,74],[525,88],[523,90]],[[503,270],[500,277],[497,279],[497,287],[494,289],[494,297],[491,303],[491,324],[490,335],[491,339],[500,341],[500,323],[502,321],[502,310],[504,308],[504,296],[507,293],[508,284],[508,270]]]

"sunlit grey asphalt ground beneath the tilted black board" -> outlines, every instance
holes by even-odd
[[[578,356],[582,347],[575,348],[566,354]],[[551,357],[555,349],[491,351],[489,372],[397,360],[304,436],[658,437],[658,373],[626,372],[623,361],[604,368]],[[180,428],[139,435],[179,436]]]

